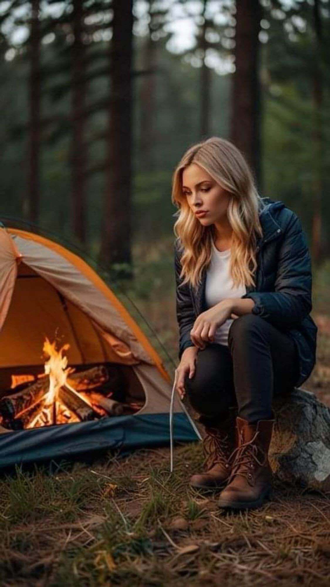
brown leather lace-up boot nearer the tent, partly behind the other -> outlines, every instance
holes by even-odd
[[[230,456],[237,446],[235,414],[232,410],[228,417],[218,423],[217,427],[204,424],[206,436],[203,438],[205,473],[193,475],[191,487],[216,490],[224,487],[231,472]]]

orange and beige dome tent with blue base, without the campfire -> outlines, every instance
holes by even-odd
[[[43,366],[42,344],[58,329],[69,365],[120,363],[129,393],[144,406],[133,416],[59,424],[0,435],[0,467],[114,447],[169,443],[171,377],[126,308],[96,272],[39,235],[0,228],[0,376]],[[26,372],[26,373],[25,373]],[[1,377],[0,377],[1,382]],[[175,440],[196,440],[174,402]]]

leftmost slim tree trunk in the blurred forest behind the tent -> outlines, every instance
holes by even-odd
[[[31,222],[39,220],[40,139],[41,139],[41,74],[40,74],[39,0],[31,1],[29,39],[29,138],[28,138],[28,198],[27,211]],[[26,208],[26,207],[25,207]]]

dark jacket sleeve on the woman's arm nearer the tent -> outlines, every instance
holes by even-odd
[[[179,360],[183,351],[188,346],[194,346],[190,339],[190,330],[193,328],[196,320],[193,300],[191,299],[188,284],[180,285],[183,279],[180,279],[181,263],[177,245],[174,244],[174,269],[176,276],[176,316],[179,325]],[[180,285],[180,287],[179,287]]]

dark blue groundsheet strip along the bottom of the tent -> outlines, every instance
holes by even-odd
[[[174,414],[174,441],[197,440],[187,416]],[[0,436],[0,468],[55,458],[95,454],[106,449],[170,445],[169,414],[105,417],[75,424],[18,430]]]

